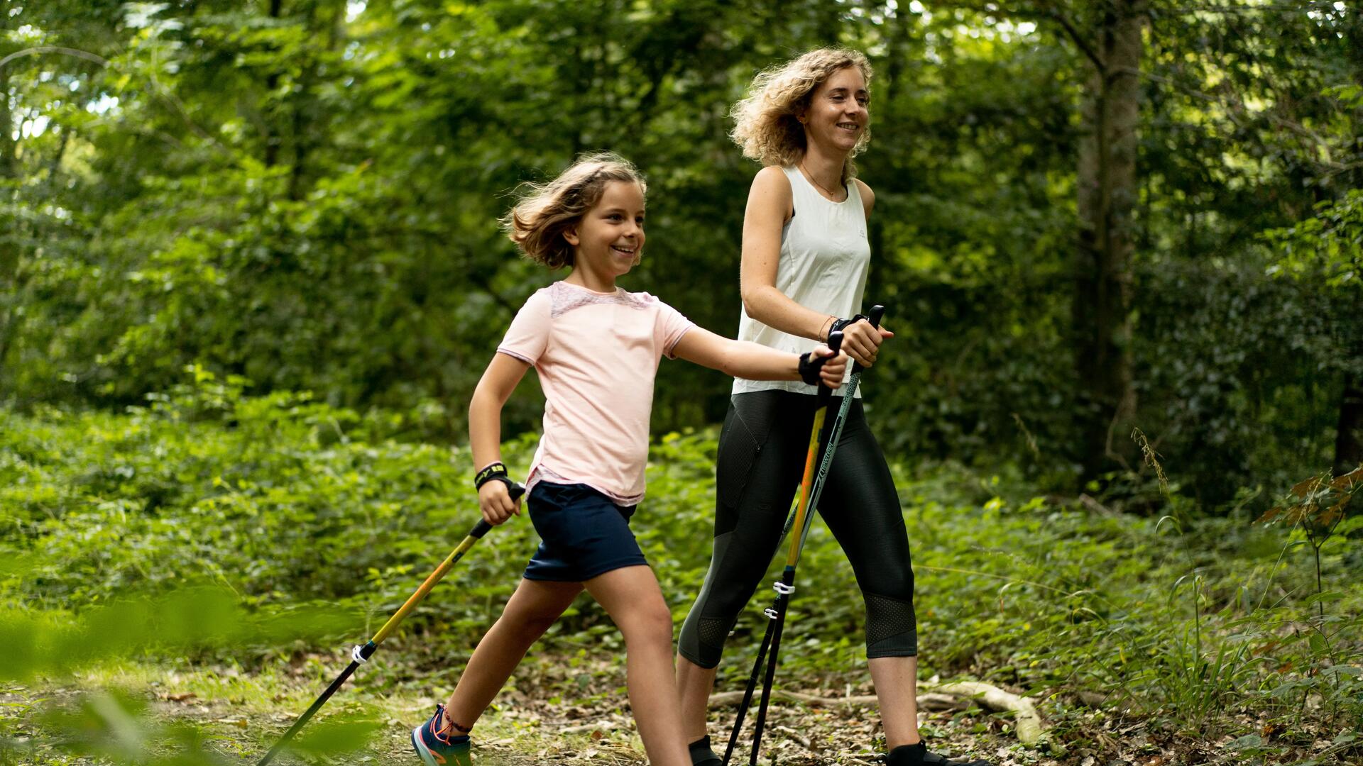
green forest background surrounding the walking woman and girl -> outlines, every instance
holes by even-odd
[[[649,248],[624,285],[732,334],[756,168],[728,109],[829,44],[875,68],[867,301],[897,337],[866,387],[938,600],[925,669],[1044,699],[1052,732],[1013,748],[968,706],[940,735],[1022,762],[1356,756],[1363,18],[1277,0],[0,1],[0,583],[29,647],[0,673],[0,756],[162,758],[179,735],[108,740],[116,711],[183,694],[255,711],[200,716],[217,751],[267,744],[256,718],[301,709],[319,647],[473,518],[466,401],[557,278],[499,232],[515,187],[628,157]],[[679,617],[728,386],[658,376],[641,540]],[[522,468],[541,403],[527,382],[507,408]],[[420,716],[527,526],[448,586],[477,604],[414,617],[365,720]],[[838,607],[791,672],[860,687],[855,586],[811,540]],[[202,619],[157,622],[176,604]],[[97,642],[110,620],[131,632]],[[547,656],[608,627],[583,605]],[[611,664],[544,691],[563,667],[526,699],[623,703]],[[393,702],[403,683],[425,691]],[[104,728],[55,733],[65,709]]]

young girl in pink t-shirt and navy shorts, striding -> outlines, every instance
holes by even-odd
[[[690,766],[673,681],[672,613],[628,526],[643,499],[658,361],[682,357],[748,379],[842,380],[846,357],[831,357],[825,346],[797,356],[729,341],[647,293],[617,288],[643,251],[643,195],[645,181],[628,162],[594,154],[532,187],[506,217],[527,258],[571,273],[530,296],[511,322],[469,403],[469,442],[483,518],[499,525],[519,512],[500,462],[502,406],[534,367],[545,398],[544,435],[526,484],[542,542],[454,694],[412,731],[427,766],[472,762],[473,724],[583,589],[624,635],[630,706],[649,761]]]

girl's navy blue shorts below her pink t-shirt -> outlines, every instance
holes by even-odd
[[[647,564],[630,532],[635,506],[616,506],[586,484],[540,481],[526,500],[540,549],[526,579],[586,582],[611,570]]]

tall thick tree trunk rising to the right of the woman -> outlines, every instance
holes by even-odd
[[[1126,435],[1131,387],[1131,255],[1145,0],[1114,0],[1100,16],[1084,94],[1079,142],[1079,241],[1074,259],[1074,367],[1084,480],[1133,451]]]

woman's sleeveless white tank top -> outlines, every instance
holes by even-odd
[[[866,274],[871,264],[871,243],[866,239],[866,210],[856,181],[848,183],[848,198],[831,202],[804,179],[799,168],[781,168],[791,181],[795,217],[781,229],[781,259],[776,267],[776,289],[795,303],[821,313],[845,319],[861,311]],[[815,341],[781,333],[748,316],[739,320],[739,339],[782,352],[803,354]],[[848,373],[851,375],[851,365]],[[800,380],[733,379],[733,393],[796,391],[814,394],[814,386]],[[857,397],[861,391],[857,391]]]

